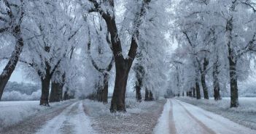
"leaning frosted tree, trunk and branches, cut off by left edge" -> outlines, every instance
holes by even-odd
[[[15,67],[20,58],[20,54],[23,50],[23,32],[22,28],[24,23],[24,16],[26,14],[25,9],[28,3],[23,0],[20,1],[0,1],[0,34],[1,34],[1,46],[0,49],[4,49],[8,40],[15,44],[15,49],[12,50],[12,54],[8,57],[5,55],[1,59],[9,59],[4,70],[0,75],[0,100],[3,95],[4,88],[15,70]],[[4,49],[4,51],[9,51]]]

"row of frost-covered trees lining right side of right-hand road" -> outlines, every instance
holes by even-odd
[[[255,59],[255,1],[185,0],[175,5],[173,35],[179,45],[171,74],[176,92],[201,99],[202,88],[209,99],[211,85],[218,100],[229,83],[230,107],[237,107],[238,80],[247,78]]]

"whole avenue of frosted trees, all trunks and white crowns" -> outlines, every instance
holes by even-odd
[[[197,99],[213,93],[219,100],[229,87],[230,107],[237,107],[238,82],[255,64],[252,0],[0,0],[0,5],[0,100],[20,64],[26,78],[41,84],[43,106],[75,96],[106,104],[113,88],[110,112],[125,112],[131,87],[137,101],[163,93]]]

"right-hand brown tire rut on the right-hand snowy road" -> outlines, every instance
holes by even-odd
[[[175,101],[176,101],[176,100],[175,100]],[[176,102],[177,102],[177,104],[179,104],[180,106],[182,106],[183,109],[185,109],[185,112],[186,112],[193,120],[195,120],[195,122],[197,122],[198,125],[200,125],[200,126],[203,128],[203,130],[205,130],[205,132],[203,132],[204,134],[206,134],[206,133],[209,133],[209,134],[216,134],[216,133],[214,132],[214,130],[210,129],[209,127],[207,127],[206,125],[204,125],[203,122],[201,122],[201,121],[198,120],[195,116],[193,116],[193,114],[191,114],[191,113],[185,108],[185,106],[183,106],[182,104],[180,104],[179,101],[176,101]]]

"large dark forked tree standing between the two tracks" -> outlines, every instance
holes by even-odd
[[[117,20],[115,18],[117,12],[115,12],[117,3],[113,0],[108,1],[90,1],[91,7],[88,7],[88,12],[98,12],[101,17],[106,22],[107,30],[110,33],[110,41],[112,43],[112,52],[115,56],[115,68],[116,68],[116,78],[115,78],[115,88],[112,96],[111,112],[123,111],[125,112],[125,92],[128,80],[128,74],[131,70],[133,59],[136,56],[136,50],[138,47],[137,38],[139,36],[139,27],[141,25],[141,20],[144,14],[147,12],[147,7],[150,4],[150,0],[144,1],[134,1],[136,4],[140,5],[139,9],[136,9],[136,14],[133,14],[134,18],[131,20],[131,25],[133,25],[133,30],[131,31],[131,44],[128,52],[128,57],[123,56],[122,43],[119,36],[119,31],[117,28]]]

